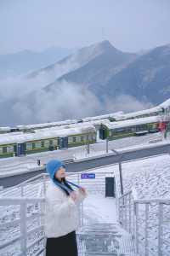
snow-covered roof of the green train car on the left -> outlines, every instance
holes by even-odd
[[[54,127],[53,127],[54,128]],[[77,127],[68,127],[65,129],[42,129],[36,131],[35,133],[20,133],[13,134],[7,133],[0,135],[0,144],[10,144],[10,143],[25,143],[34,140],[48,139],[53,137],[67,137],[70,135],[82,134],[87,132],[94,132],[94,125],[78,125]]]

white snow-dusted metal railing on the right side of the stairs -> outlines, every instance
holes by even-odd
[[[138,200],[130,191],[119,198],[119,222],[132,234],[139,255],[170,255],[170,200]]]

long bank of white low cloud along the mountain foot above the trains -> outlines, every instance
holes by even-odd
[[[14,96],[16,95],[17,91]],[[63,81],[56,83],[53,90],[35,90],[1,103],[0,125],[81,119],[117,111],[128,113],[150,107],[152,106],[149,102],[139,102],[133,96],[106,96],[105,100],[100,102],[87,86]]]

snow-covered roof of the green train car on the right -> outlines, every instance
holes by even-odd
[[[120,122],[110,122],[109,120],[105,123],[109,129],[116,129],[116,128],[122,128],[122,127],[129,127],[133,125],[144,125],[144,124],[149,124],[149,123],[155,123],[160,120],[159,116],[151,116],[151,117],[146,117],[146,118],[141,118],[141,119],[129,119],[129,120],[123,120]]]

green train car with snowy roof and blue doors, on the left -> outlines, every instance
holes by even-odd
[[[34,133],[0,135],[0,158],[34,154],[50,150],[96,143],[94,125],[70,125],[47,128]]]

